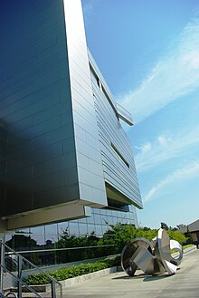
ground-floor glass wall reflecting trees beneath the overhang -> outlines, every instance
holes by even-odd
[[[87,218],[36,226],[18,230],[14,234],[6,234],[5,243],[34,264],[71,263],[117,254],[114,235],[109,233],[111,226],[117,224],[137,226],[136,208],[129,206],[128,212],[92,209],[91,216]],[[109,244],[106,243],[108,236]]]

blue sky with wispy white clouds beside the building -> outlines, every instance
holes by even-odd
[[[90,51],[135,122],[138,222],[189,224],[199,218],[199,1],[82,5]]]

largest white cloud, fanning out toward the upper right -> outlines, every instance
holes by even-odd
[[[138,122],[198,87],[199,19],[195,18],[137,90],[129,91],[120,101]]]

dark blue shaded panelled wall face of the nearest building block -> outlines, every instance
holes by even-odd
[[[10,216],[80,196],[62,0],[0,11],[0,216]]]

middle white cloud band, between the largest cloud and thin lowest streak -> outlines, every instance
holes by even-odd
[[[168,159],[179,158],[187,155],[189,148],[193,149],[199,143],[199,126],[192,130],[184,130],[177,135],[160,135],[152,142],[137,147],[135,156],[137,171],[145,172],[156,167]]]

